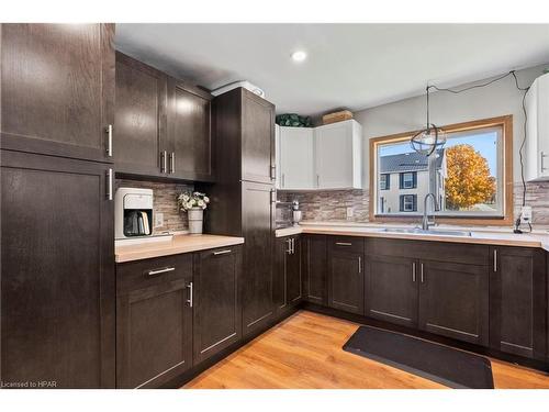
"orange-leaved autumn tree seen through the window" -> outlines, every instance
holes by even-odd
[[[495,179],[488,162],[468,144],[446,149],[446,203],[451,210],[463,210],[485,203],[495,194]]]

